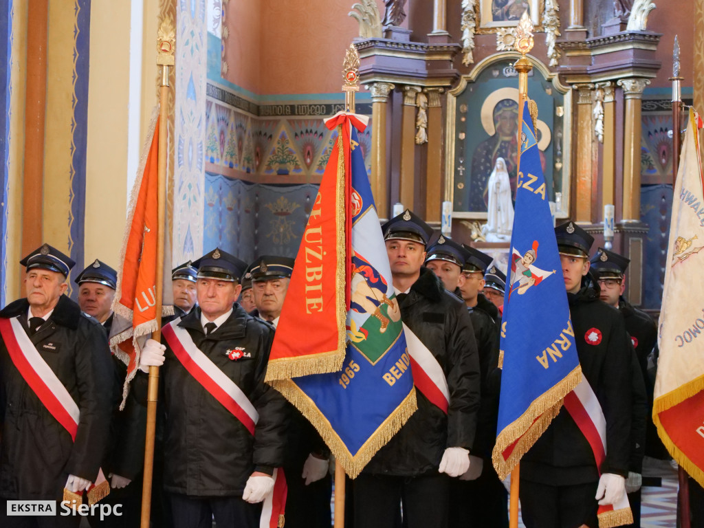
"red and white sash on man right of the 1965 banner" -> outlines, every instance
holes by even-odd
[[[413,384],[423,393],[423,396],[428,398],[430,403],[447,414],[450,407],[450,389],[447,386],[445,372],[432,352],[406,326],[406,323],[403,323],[403,333],[406,334]]]

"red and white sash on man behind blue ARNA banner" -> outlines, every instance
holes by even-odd
[[[601,464],[606,458],[606,418],[596,394],[584,377],[574,391],[565,396],[565,408],[589,442],[596,459],[596,468],[601,476]],[[598,519],[599,528],[631,524],[633,514],[627,495],[624,494],[621,501],[616,504],[600,505]]]

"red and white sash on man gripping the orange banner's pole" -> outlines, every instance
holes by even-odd
[[[223,407],[241,422],[244,427],[254,434],[254,427],[259,420],[259,413],[252,405],[246,394],[218,365],[215,365],[200,348],[196,346],[191,334],[178,323],[177,318],[161,329],[161,335],[168,343],[171,351],[187,372],[206,389],[213,398],[218,400]],[[286,479],[281,468],[274,470],[274,489],[264,498],[260,528],[276,528],[282,523],[281,517],[286,504]]]

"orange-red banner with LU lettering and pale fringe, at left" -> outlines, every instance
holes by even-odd
[[[152,120],[149,147],[142,154],[137,178],[132,187],[127,227],[122,239],[118,284],[113,311],[110,345],[115,356],[127,365],[123,402],[129,384],[139,367],[140,341],[158,329],[156,321],[156,253],[158,239],[158,118]],[[165,237],[163,263],[162,315],[172,315],[171,255]]]

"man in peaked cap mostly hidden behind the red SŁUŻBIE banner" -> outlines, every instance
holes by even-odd
[[[256,310],[276,328],[294,270],[293,258],[261,256],[249,267]],[[290,406],[284,473],[288,487],[286,526],[288,528],[329,528],[330,451],[320,434],[301,412]]]

